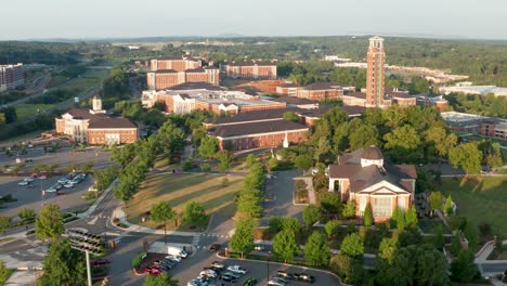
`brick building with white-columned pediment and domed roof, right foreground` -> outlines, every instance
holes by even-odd
[[[340,155],[329,166],[329,192],[342,202],[354,200],[358,217],[369,205],[376,222],[389,220],[396,207],[413,205],[416,179],[414,165],[392,165],[376,146]]]

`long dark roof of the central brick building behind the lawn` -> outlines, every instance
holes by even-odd
[[[309,130],[309,127],[301,123],[296,123],[294,121],[280,119],[273,121],[265,121],[262,123],[251,122],[218,126],[212,132],[210,132],[210,134],[220,138],[232,138],[247,134],[261,134],[294,130]]]

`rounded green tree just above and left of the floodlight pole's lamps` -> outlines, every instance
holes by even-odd
[[[64,220],[60,207],[44,206],[36,218],[35,234],[37,239],[56,240],[64,232]]]

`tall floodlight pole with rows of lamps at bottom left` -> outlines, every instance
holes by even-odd
[[[83,251],[87,257],[87,275],[88,286],[92,286],[90,252],[93,255],[102,253],[102,237],[99,235],[81,232],[79,230],[66,230],[66,234],[70,239],[70,248]]]

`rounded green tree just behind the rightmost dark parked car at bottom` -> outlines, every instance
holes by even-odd
[[[304,245],[304,258],[313,266],[327,266],[329,264],[330,250],[327,237],[322,232],[313,232]]]

